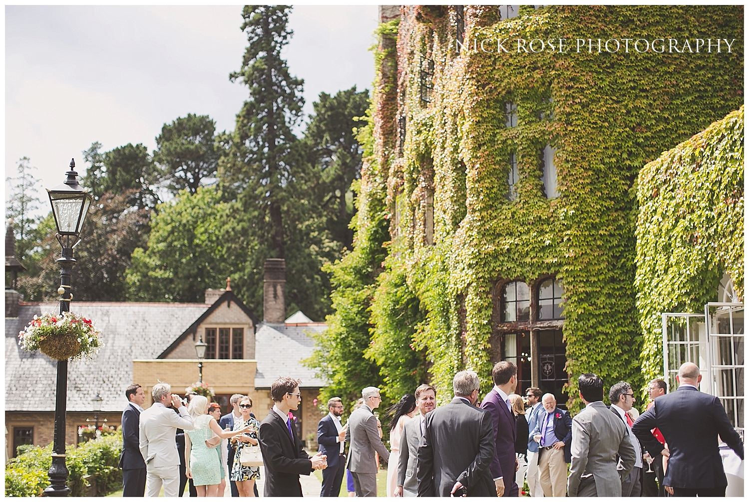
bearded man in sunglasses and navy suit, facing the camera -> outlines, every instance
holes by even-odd
[[[318,444],[320,452],[327,455],[328,463],[327,469],[323,471],[323,488],[320,496],[338,497],[346,472],[346,426],[341,425],[343,402],[340,397],[328,400],[328,411],[329,413],[318,423]]]

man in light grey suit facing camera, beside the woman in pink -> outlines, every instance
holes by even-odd
[[[416,397],[416,409],[419,414],[408,420],[403,426],[401,435],[401,454],[398,456],[398,477],[395,495],[416,497],[419,486],[416,480],[416,456],[419,454],[419,443],[424,435],[426,414],[437,405],[437,390],[431,385],[422,384],[413,393]]]

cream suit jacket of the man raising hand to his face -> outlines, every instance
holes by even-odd
[[[154,402],[140,414],[140,450],[146,468],[180,465],[180,454],[175,437],[177,429],[192,430],[192,418],[181,406],[179,414]]]

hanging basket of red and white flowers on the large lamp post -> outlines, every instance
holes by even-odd
[[[91,358],[104,345],[91,319],[71,312],[34,316],[18,337],[22,349],[40,350],[58,361]]]

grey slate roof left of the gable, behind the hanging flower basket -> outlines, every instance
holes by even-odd
[[[70,361],[67,410],[91,411],[97,392],[102,411],[127,405],[124,388],[133,382],[133,359],[156,359],[208,308],[199,303],[79,301],[73,311],[94,321],[104,346],[90,361]],[[5,410],[55,411],[57,361],[26,352],[18,332],[34,314],[59,312],[58,303],[22,303],[18,319],[5,319]]]

